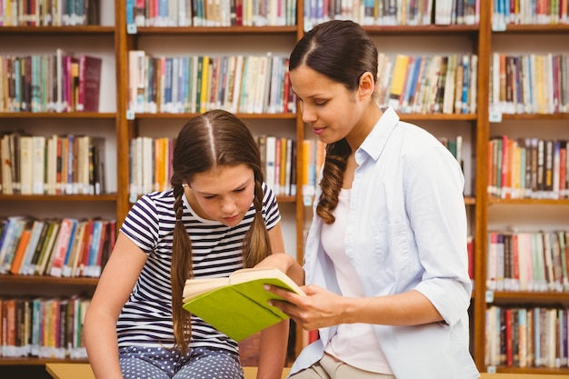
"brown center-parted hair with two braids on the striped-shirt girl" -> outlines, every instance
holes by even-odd
[[[235,115],[213,110],[189,120],[177,136],[170,180],[174,188],[176,217],[172,241],[172,314],[175,344],[184,352],[191,337],[191,315],[182,308],[185,280],[193,276],[192,242],[182,221],[185,183],[196,174],[217,167],[248,165],[255,174],[255,217],[243,244],[245,267],[253,267],[271,254],[271,244],[261,209],[263,171],[253,135]]]

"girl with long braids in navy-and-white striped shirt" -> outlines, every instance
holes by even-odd
[[[242,378],[237,343],[182,308],[185,280],[258,264],[304,282],[283,254],[255,140],[235,115],[215,110],[187,122],[172,166],[172,188],[142,196],[126,215],[86,314],[98,379]],[[286,322],[261,333],[258,378],[281,376],[287,336]]]

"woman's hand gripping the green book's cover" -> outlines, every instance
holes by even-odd
[[[283,297],[270,304],[288,314],[304,330],[314,330],[336,324],[348,324],[346,315],[350,309],[349,298],[334,294],[314,284],[304,285],[306,296],[294,294],[274,285],[266,290]]]

